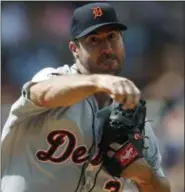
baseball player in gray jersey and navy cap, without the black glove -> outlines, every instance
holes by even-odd
[[[126,28],[107,3],[74,11],[69,48],[75,64],[38,72],[11,107],[2,132],[2,192],[120,192],[127,180],[142,192],[170,191],[148,123],[144,158],[120,178],[101,169],[105,120],[118,104],[133,109],[140,100],[136,85],[119,76]]]

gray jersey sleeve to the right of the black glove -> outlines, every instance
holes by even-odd
[[[149,122],[145,124],[145,136],[147,136],[147,138],[145,138],[145,147],[148,147],[148,149],[144,150],[144,157],[158,176],[165,177],[161,166],[162,156],[158,141]]]

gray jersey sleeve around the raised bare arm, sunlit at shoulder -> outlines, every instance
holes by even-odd
[[[55,76],[63,75],[66,73],[66,66],[61,67],[60,70],[54,68],[44,68],[35,74],[29,82],[26,82],[22,87],[21,96],[10,109],[9,117],[5,123],[4,129],[5,127],[16,125],[28,117],[37,116],[41,113],[51,110],[47,107],[37,106],[30,100],[30,86],[34,83],[51,79]]]

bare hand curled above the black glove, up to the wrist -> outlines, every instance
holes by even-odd
[[[139,102],[141,92],[129,79],[112,75],[99,75],[98,88],[107,92],[124,109],[132,109]]]

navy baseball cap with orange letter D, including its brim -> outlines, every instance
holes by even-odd
[[[103,26],[113,26],[126,30],[126,25],[118,21],[114,8],[108,3],[89,3],[77,8],[72,16],[71,38],[79,39]]]

